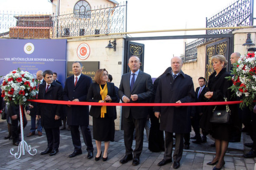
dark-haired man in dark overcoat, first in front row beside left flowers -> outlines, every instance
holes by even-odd
[[[38,90],[38,99],[62,100],[62,85],[53,80],[51,70],[45,70],[43,77],[45,82],[40,84]],[[62,125],[60,114],[62,105],[38,103],[36,115],[41,118],[41,125],[45,129],[47,137],[47,149],[41,152],[41,155],[56,155],[59,152],[59,126]]]

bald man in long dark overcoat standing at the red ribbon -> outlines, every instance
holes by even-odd
[[[156,90],[156,103],[183,103],[194,101],[194,85],[192,78],[181,70],[183,65],[180,57],[171,59],[172,71],[162,75]],[[155,116],[160,120],[160,130],[165,131],[164,159],[158,163],[163,166],[172,162],[173,133],[176,136],[175,151],[173,153],[173,168],[180,167],[180,159],[183,153],[183,137],[191,129],[190,113],[187,107],[156,106]]]

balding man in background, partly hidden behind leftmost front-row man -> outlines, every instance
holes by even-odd
[[[39,85],[42,84],[44,82],[43,79],[43,71],[42,70],[38,70],[38,72],[36,72],[36,79],[38,80],[38,84],[36,86],[36,88],[39,88]],[[31,102],[31,109],[30,109],[30,116],[31,116],[31,129],[30,132],[28,133],[27,137],[33,136],[36,133],[36,106],[37,103],[36,102]],[[38,132],[38,136],[42,136],[42,126],[41,126],[41,119],[37,120],[37,132]]]

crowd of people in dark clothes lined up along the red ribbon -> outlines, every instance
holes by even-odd
[[[233,53],[230,57],[231,64],[234,64],[239,58],[239,53]],[[171,59],[171,67],[159,76],[154,84],[152,78],[140,70],[140,58],[131,56],[128,61],[130,72],[122,75],[119,88],[111,83],[112,76],[106,69],[99,69],[95,73],[95,83],[92,79],[82,74],[83,65],[75,61],[72,65],[73,75],[66,79],[64,89],[57,81],[57,73],[51,70],[38,71],[38,95],[37,99],[46,100],[65,100],[73,102],[119,102],[124,103],[185,103],[185,102],[216,102],[239,100],[232,98],[232,92],[229,89],[232,81],[225,77],[230,76],[226,66],[228,61],[222,55],[211,57],[214,72],[209,76],[208,84],[204,77],[199,77],[199,87],[194,91],[192,78],[182,71],[183,61],[180,57]],[[1,99],[1,109],[6,107],[8,113],[7,127],[9,134],[5,139],[12,139],[14,145],[19,145],[19,108],[15,105],[3,104]],[[195,136],[191,137],[195,144],[205,143],[207,135],[215,139],[216,155],[207,165],[216,165],[213,170],[220,170],[224,164],[224,156],[228,149],[229,142],[240,142],[242,123],[245,128],[250,129],[249,133],[253,143],[245,144],[251,147],[251,151],[244,154],[244,158],[256,157],[256,107],[254,113],[249,112],[250,117],[244,116],[242,110],[237,105],[228,105],[230,108],[231,123],[212,123],[211,116],[215,106],[123,106],[123,130],[125,155],[120,163],[124,164],[132,161],[132,165],[140,163],[140,155],[143,147],[144,129],[150,118],[151,127],[149,131],[149,150],[153,152],[164,151],[164,158],[158,163],[163,166],[171,163],[173,168],[180,167],[180,160],[183,155],[183,147],[189,149],[191,126],[194,129]],[[225,109],[225,105],[218,105],[217,109]],[[93,139],[96,142],[97,154],[95,161],[108,159],[109,143],[114,141],[116,119],[115,106],[91,106],[88,105],[57,105],[48,103],[31,102],[26,106],[25,111],[31,116],[31,130],[27,137],[37,133],[42,135],[42,129],[45,129],[47,137],[47,148],[41,152],[41,155],[49,154],[54,156],[59,148],[59,130],[68,129],[71,131],[74,151],[69,158],[82,154],[80,131],[83,136],[88,159],[93,158],[92,136],[89,125],[89,115],[93,122]],[[248,113],[247,113],[248,114]],[[251,123],[246,123],[252,121]],[[37,123],[36,123],[37,120]],[[62,126],[63,120],[63,126]],[[24,116],[24,127],[26,126],[26,116]],[[37,125],[37,127],[36,127]],[[60,126],[62,126],[60,128]],[[202,137],[200,134],[200,128]],[[175,133],[175,135],[174,135]],[[165,137],[164,137],[165,134]],[[175,137],[175,144],[173,143]],[[132,148],[133,139],[135,139],[135,148]],[[183,141],[185,143],[183,144]],[[102,155],[101,144],[104,142],[104,152]],[[172,156],[173,147],[175,151]]]

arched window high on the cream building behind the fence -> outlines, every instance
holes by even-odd
[[[80,0],[76,2],[74,6],[74,14],[79,18],[90,18],[91,15],[91,7],[88,2],[85,0]]]

